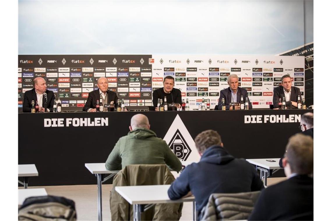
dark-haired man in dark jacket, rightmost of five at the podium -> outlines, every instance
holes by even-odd
[[[300,88],[291,85],[291,78],[289,75],[284,75],[281,78],[281,85],[273,89],[273,107],[279,107],[279,98],[281,102],[283,97],[286,100],[286,107],[288,109],[297,109],[297,96],[300,96],[300,101],[302,103],[302,97]],[[280,104],[281,105],[281,104]]]

